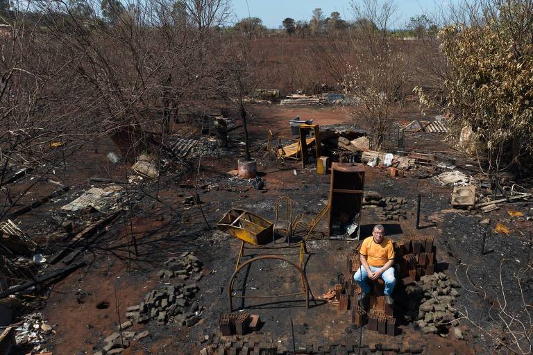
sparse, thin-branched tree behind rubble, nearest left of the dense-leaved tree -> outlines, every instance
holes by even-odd
[[[347,96],[359,103],[353,118],[369,123],[373,132],[373,146],[380,149],[391,125],[398,101],[409,80],[408,57],[391,44],[389,25],[394,15],[394,3],[363,0],[362,6],[353,4],[355,15],[364,19],[353,38],[353,51],[347,64],[343,86]]]

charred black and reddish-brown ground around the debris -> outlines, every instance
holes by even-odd
[[[320,239],[316,235],[316,240],[307,243],[309,253],[305,255],[310,309],[305,309],[302,297],[245,302],[235,299],[235,309],[247,309],[260,315],[260,327],[249,336],[222,338],[219,317],[230,311],[228,280],[235,270],[240,243],[217,230],[217,221],[231,208],[246,209],[273,220],[280,196],[289,196],[296,201],[294,215],[315,216],[328,203],[330,175],[317,175],[313,165],[301,168],[294,162],[267,159],[264,142],[268,129],[287,133],[288,119],[297,114],[302,118],[313,116],[315,123],[321,125],[350,123],[347,112],[338,108],[314,110],[303,107],[298,110],[260,106],[255,110],[257,114],[250,125],[255,142],[253,154],[258,159],[258,171],[264,181],[261,190],[254,189],[250,181],[228,173],[237,168],[237,159],[242,155],[242,132],[239,130],[230,133],[227,149],[214,148],[213,139],[206,139],[209,142],[205,145],[207,148],[198,147],[200,153],[190,159],[187,169],[179,172],[179,178],[171,171],[155,181],[139,179],[126,164],[108,161],[105,156],[112,150],[112,144],[105,141],[100,143],[98,153],[94,147],[87,147],[75,163],[67,165],[66,171],[53,174],[59,175],[62,184],[70,190],[17,217],[20,229],[36,236],[37,243],[44,245],[48,239],[48,246],[40,250],[40,254],[47,258],[71,245],[65,240],[69,223],[79,230],[86,222],[94,223],[108,215],[91,209],[71,214],[60,207],[91,187],[103,187],[105,182],[130,182],[124,184],[125,191],[117,207],[111,209],[124,211],[94,243],[76,255],[76,260],[86,262],[85,266],[54,284],[46,300],[22,298],[23,306],[18,301],[15,321],[22,320],[24,314],[42,311],[46,322],[53,327],[53,333],[44,335],[41,349],[49,349],[53,354],[94,354],[99,351],[105,345],[104,338],[126,321],[127,307],[139,304],[151,290],[176,282],[175,279],[160,278],[158,272],[164,269],[165,261],[184,252],[192,252],[203,263],[203,277],[196,282],[199,291],[192,299],[200,307],[199,321],[191,327],[173,319],[166,324],[158,324],[155,320],[134,323],[128,331],[148,330],[150,336],[133,341],[121,354],[198,354],[203,349],[218,354],[228,342],[230,347],[256,342],[265,349],[277,348],[281,352],[283,349],[291,351],[293,341],[296,353],[319,351],[319,347],[335,353],[339,346],[353,349],[360,344],[362,352],[379,349],[393,352],[397,348],[398,351],[423,354],[489,354],[505,352],[505,346],[518,336],[521,324],[513,319],[520,320],[524,327],[531,327],[526,315],[533,298],[531,225],[525,217],[530,212],[530,202],[508,203],[487,214],[479,210],[454,210],[450,208],[452,189],[430,178],[446,169],[427,171],[418,167],[406,171],[403,177],[391,177],[386,168],[366,166],[365,191],[375,191],[383,198],[403,198],[405,204],[401,205],[402,218],[398,220],[381,220],[384,214],[380,209],[365,207],[362,230],[369,232],[372,225],[380,222],[386,225],[388,234],[395,240],[409,233],[434,236],[436,271],[444,272],[462,286],[458,288],[459,297],[455,304],[460,312],[457,328],[461,329],[462,337],[454,334],[455,327],[447,328],[449,334],[444,331],[423,334],[416,326],[416,319],[407,314],[411,296],[404,291],[398,291],[397,295],[397,304],[405,307],[396,307],[395,316],[400,320],[396,337],[355,328],[350,322],[349,311],[339,311],[319,299],[337,283],[339,274],[346,272],[346,255],[352,252],[355,242]],[[405,114],[405,117],[402,121],[408,121],[409,116]],[[407,135],[405,149],[438,151],[439,162],[459,167],[475,161],[442,140],[443,135],[412,133]],[[477,168],[471,166],[464,171],[475,175]],[[24,189],[24,184],[30,181],[15,184],[13,193]],[[56,187],[46,187],[36,194],[45,196],[54,189]],[[416,230],[419,193],[422,196],[420,224],[423,228]],[[194,204],[196,194],[201,209]],[[31,202],[31,196],[18,204],[23,206],[28,202]],[[522,211],[524,216],[511,217],[507,210]],[[480,224],[480,220],[486,217],[491,219],[489,225]],[[496,223],[508,226],[510,234],[493,232]],[[324,229],[322,221],[316,230]],[[482,253],[480,244],[484,234],[487,237]],[[297,251],[283,251],[293,254],[289,255],[291,259],[298,259]],[[246,255],[253,252],[246,250]],[[260,254],[262,251],[255,252]],[[63,266],[62,261],[46,266],[44,271],[60,266]],[[234,291],[250,296],[273,296],[300,289],[300,277],[287,263],[260,261],[238,275]],[[415,311],[420,304],[414,302]],[[502,329],[505,322],[508,329]],[[14,353],[26,354],[30,349],[31,346],[21,345]]]

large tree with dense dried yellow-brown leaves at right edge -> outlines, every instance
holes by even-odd
[[[491,0],[481,13],[439,33],[448,60],[442,108],[484,143],[490,178],[509,167],[521,175],[533,149],[533,1]],[[438,103],[416,91],[424,105]]]

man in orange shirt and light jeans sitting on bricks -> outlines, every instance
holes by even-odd
[[[363,300],[370,292],[367,279],[377,280],[381,277],[385,282],[385,302],[393,304],[391,297],[396,279],[394,278],[394,245],[392,241],[384,237],[385,228],[383,225],[375,225],[372,236],[364,239],[359,254],[361,255],[361,267],[353,279],[361,287],[361,295],[358,301]]]

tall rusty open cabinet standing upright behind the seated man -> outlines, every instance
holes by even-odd
[[[364,193],[364,165],[333,163],[330,180],[328,236],[353,236],[359,239]]]

